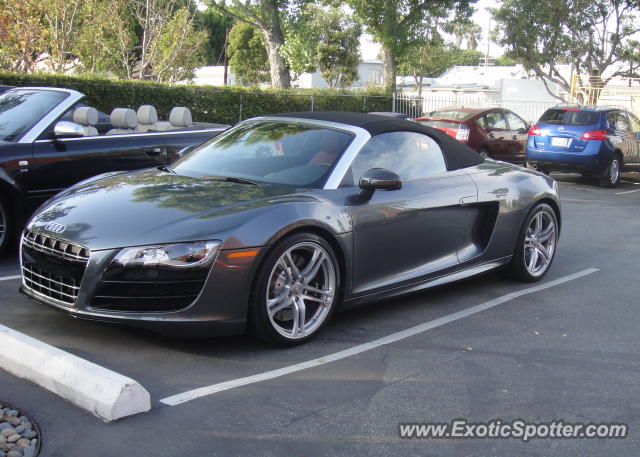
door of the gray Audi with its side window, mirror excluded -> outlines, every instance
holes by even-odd
[[[353,292],[417,282],[458,266],[472,238],[473,181],[447,171],[440,146],[412,132],[374,136],[354,159],[348,176],[357,184],[371,168],[399,174],[402,188],[376,191],[351,205],[354,237]]]

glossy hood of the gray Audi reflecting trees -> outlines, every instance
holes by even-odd
[[[194,241],[227,234],[270,206],[309,199],[305,189],[151,169],[78,184],[47,202],[28,228],[91,250]]]

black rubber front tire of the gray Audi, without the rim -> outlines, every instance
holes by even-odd
[[[324,314],[323,320],[317,324],[317,327],[313,328],[312,331],[310,331],[309,333],[305,334],[302,337],[298,336],[294,338],[294,337],[286,337],[285,335],[281,334],[278,330],[276,330],[277,323],[275,323],[275,317],[277,313],[276,315],[274,315],[274,321],[272,322],[272,320],[269,317],[269,313],[267,312],[267,296],[268,294],[271,294],[273,292],[273,289],[270,289],[270,287],[273,286],[273,284],[270,284],[270,280],[272,278],[272,273],[276,271],[275,270],[276,264],[279,262],[280,258],[283,255],[285,255],[287,251],[289,251],[289,249],[291,249],[292,247],[301,246],[301,245],[309,245],[309,246],[313,245],[316,247],[320,247],[321,251],[324,251],[326,254],[328,254],[328,260],[331,262],[333,266],[333,272],[335,274],[334,286],[333,286],[334,293],[331,301],[327,302],[328,310]],[[304,259],[303,259],[303,262],[304,262]],[[301,268],[300,270],[301,272],[303,272],[304,268]],[[283,272],[281,272],[281,276],[282,274]],[[317,274],[325,275],[326,272],[324,270],[322,273],[318,271]],[[327,275],[330,275],[330,273],[328,273]],[[317,277],[317,275],[314,277]],[[318,235],[315,235],[313,233],[306,233],[306,232],[296,233],[292,236],[284,238],[269,251],[269,253],[266,255],[266,257],[262,261],[262,264],[260,265],[258,271],[256,272],[256,276],[254,278],[253,290],[249,300],[249,309],[248,309],[249,334],[265,343],[276,345],[276,346],[290,347],[290,346],[297,346],[299,344],[306,343],[310,339],[314,338],[320,332],[320,330],[326,325],[326,323],[331,319],[331,316],[335,312],[340,301],[340,291],[341,291],[340,279],[341,279],[340,265],[337,261],[335,252],[331,247],[331,245],[324,238]],[[277,284],[277,281],[276,281],[276,284]],[[287,286],[284,286],[284,287],[287,287]],[[322,288],[324,289],[324,287]],[[291,290],[293,290],[293,288]],[[301,291],[300,293],[302,294],[303,292]],[[308,293],[309,292],[307,291],[307,294]],[[289,296],[291,297],[291,293],[289,293]],[[312,306],[310,306],[307,309],[309,305],[312,305]],[[314,302],[306,302],[305,313],[307,312],[307,310],[310,310],[309,314],[312,315],[314,313],[313,311],[314,305],[316,305]],[[321,305],[317,305],[318,310],[320,309],[320,306]],[[293,307],[291,308],[291,311],[288,310],[288,307],[283,311],[291,312],[291,314],[293,315]],[[312,322],[312,321],[313,319],[310,319],[309,321],[307,321],[305,318],[305,322]],[[280,329],[282,330],[281,327]]]

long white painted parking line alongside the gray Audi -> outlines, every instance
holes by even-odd
[[[306,362],[296,363],[294,365],[289,365],[287,367],[278,368],[277,370],[265,371],[264,373],[258,373],[253,376],[247,376],[245,378],[232,379],[231,381],[220,382],[218,384],[213,384],[206,387],[200,387],[198,389],[193,389],[188,392],[184,392],[181,394],[173,395],[171,397],[163,398],[160,400],[161,403],[169,406],[176,406],[181,403],[185,403],[191,400],[195,400],[196,398],[204,397],[206,395],[211,395],[214,393],[222,392],[224,390],[235,389],[236,387],[246,386],[248,384],[254,384],[256,382],[266,381],[268,379],[278,378],[280,376],[288,375],[291,373],[295,373],[298,371],[306,370],[308,368],[317,367],[320,365],[324,365],[329,362],[335,362],[337,360],[342,360],[347,357],[351,357],[353,355],[360,354],[365,351],[369,351],[371,349],[378,348],[380,346],[384,346],[386,344],[395,343],[396,341],[404,340],[405,338],[409,338],[414,335],[418,335],[419,333],[426,332],[427,330],[434,329],[436,327],[440,327],[442,325],[449,324],[451,322],[457,321],[459,319],[471,316],[473,314],[479,313],[481,311],[485,311],[487,309],[493,308],[494,306],[498,306],[502,303],[508,302],[518,297],[522,297],[523,295],[532,294],[535,292],[539,292],[544,289],[549,289],[550,287],[558,286],[560,284],[564,284],[569,281],[573,281],[575,279],[581,278],[583,276],[590,275],[598,271],[597,268],[588,268],[586,270],[580,271],[578,273],[574,273],[571,275],[563,276],[562,278],[555,279],[553,281],[549,281],[543,284],[539,284],[537,286],[528,287],[526,289],[519,290],[517,292],[511,292],[510,294],[503,295],[502,297],[494,298],[493,300],[489,300],[487,302],[481,303],[476,306],[472,306],[471,308],[464,309],[462,311],[458,311],[456,313],[448,314],[446,316],[439,317],[429,322],[425,322],[424,324],[416,325],[415,327],[408,328],[406,330],[402,330],[400,332],[392,333],[391,335],[385,336],[383,338],[379,338],[377,340],[373,340],[369,343],[360,344],[358,346],[352,347],[350,349],[345,349],[344,351],[335,352],[333,354],[326,355],[324,357],[320,357],[318,359],[307,360]]]

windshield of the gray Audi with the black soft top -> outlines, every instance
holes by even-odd
[[[318,125],[248,122],[193,150],[172,168],[198,177],[319,188],[352,139],[348,132]]]

